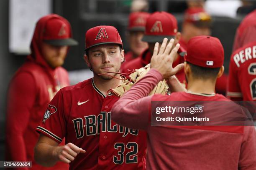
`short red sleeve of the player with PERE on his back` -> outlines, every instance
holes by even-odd
[[[233,58],[230,59],[229,65],[227,97],[231,100],[241,100],[243,97],[238,82],[237,67],[233,62]]]

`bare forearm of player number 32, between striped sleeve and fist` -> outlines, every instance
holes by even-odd
[[[56,150],[59,146],[52,146],[48,143],[38,143],[34,148],[34,159],[36,163],[51,167],[56,164],[58,158],[56,158]]]

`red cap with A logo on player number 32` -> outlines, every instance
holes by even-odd
[[[101,25],[87,30],[85,34],[85,50],[101,44],[119,44],[123,47],[118,30],[109,25]]]

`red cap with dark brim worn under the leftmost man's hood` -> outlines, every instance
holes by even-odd
[[[56,46],[78,44],[78,42],[72,38],[68,21],[59,18],[51,18],[46,21],[43,31],[43,40],[47,44]]]

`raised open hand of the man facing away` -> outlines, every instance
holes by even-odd
[[[174,39],[171,39],[167,43],[168,39],[164,38],[163,43],[159,49],[159,43],[156,42],[154,47],[154,53],[151,58],[151,68],[158,70],[164,78],[168,78],[175,75],[179,70],[181,70],[184,64],[179,64],[176,67],[172,67],[175,56],[179,50],[179,44],[177,44],[173,49]]]

